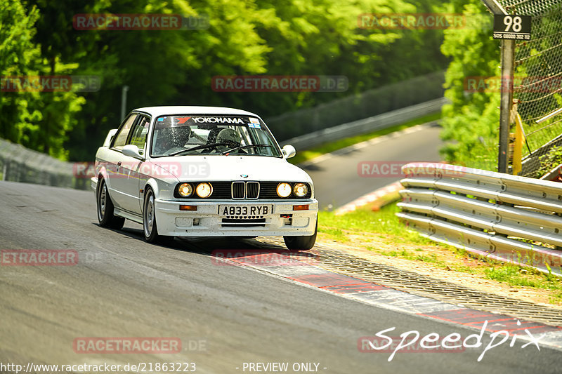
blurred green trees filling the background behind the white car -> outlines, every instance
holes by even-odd
[[[126,109],[219,105],[275,116],[443,69],[440,30],[362,29],[362,13],[428,12],[433,0],[7,0],[1,75],[94,75],[98,92],[3,93],[0,137],[73,160],[93,159]],[[207,29],[77,30],[81,13],[209,17]],[[420,46],[423,45],[423,48]],[[344,93],[221,93],[217,75],[345,75]]]

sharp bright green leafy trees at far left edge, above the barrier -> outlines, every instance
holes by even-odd
[[[26,8],[20,0],[0,4],[0,75],[65,75],[76,65],[58,64],[58,56],[44,58],[36,23],[41,19],[36,6]],[[0,137],[26,147],[67,158],[63,148],[67,133],[77,119],[84,98],[69,92],[5,92],[0,97]]]

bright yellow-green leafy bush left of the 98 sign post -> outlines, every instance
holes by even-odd
[[[462,3],[464,3],[463,1]],[[493,170],[497,159],[499,92],[466,93],[467,79],[499,75],[499,43],[492,39],[492,15],[480,0],[456,2],[453,12],[462,12],[469,27],[445,30],[441,46],[452,58],[445,74],[445,97],[441,138],[450,141],[442,154],[447,161]]]

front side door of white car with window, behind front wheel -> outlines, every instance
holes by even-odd
[[[138,120],[131,129],[131,135],[126,144],[136,145],[141,154],[141,159],[131,156],[122,156],[121,174],[123,201],[122,209],[135,214],[141,214],[141,166],[145,162],[145,154],[147,152],[146,138],[148,128],[150,127],[150,117],[145,114],[139,114]]]

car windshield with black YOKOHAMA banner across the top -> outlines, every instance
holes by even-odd
[[[159,116],[150,155],[243,154],[282,157],[263,121],[253,116]]]

